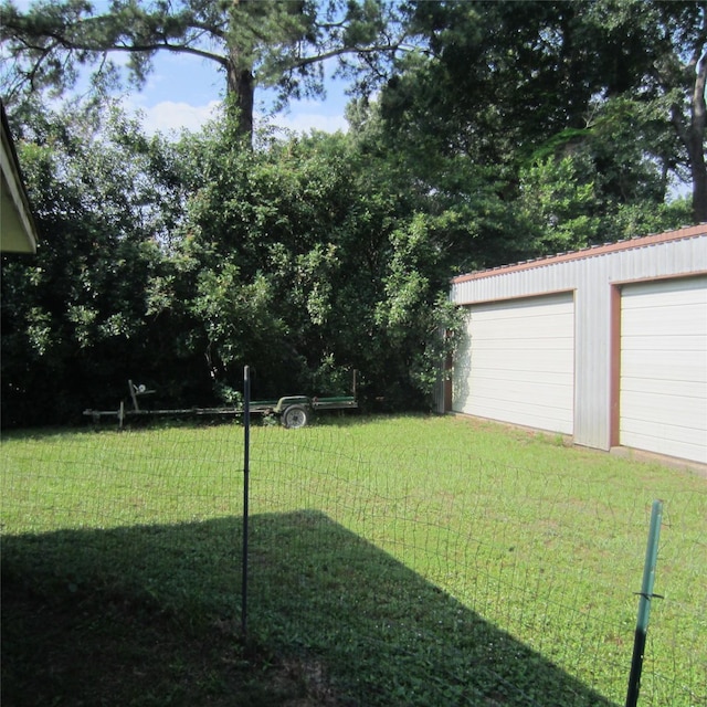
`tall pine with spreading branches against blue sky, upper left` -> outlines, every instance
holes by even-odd
[[[114,53],[129,55],[128,77],[140,85],[156,52],[186,53],[223,72],[238,133],[249,139],[256,85],[276,87],[282,102],[319,95],[325,61],[338,59],[341,71],[356,62],[376,66],[403,39],[383,0],[115,0],[105,13],[83,0],[41,1],[21,13],[4,0],[0,17],[12,62],[6,102],[21,92],[72,87],[84,65],[96,67],[94,87],[115,85]]]

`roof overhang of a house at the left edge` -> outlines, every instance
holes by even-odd
[[[4,114],[4,106],[0,104],[0,107],[2,113],[0,251],[3,253],[35,253],[36,228],[30,209],[30,200]]]

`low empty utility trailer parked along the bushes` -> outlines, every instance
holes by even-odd
[[[155,393],[147,390],[145,386],[136,386],[128,381],[130,392],[130,404],[125,400],[120,401],[117,410],[84,410],[83,414],[98,423],[103,418],[113,418],[118,421],[118,426],[123,429],[125,421],[129,418],[150,416],[223,416],[231,415],[238,418],[243,414],[243,408],[229,405],[223,408],[168,408],[168,409],[144,409],[140,408],[138,399],[144,395]],[[356,377],[354,378],[354,391],[356,392]],[[262,415],[275,415],[285,428],[304,428],[312,415],[318,411],[327,410],[352,410],[358,408],[356,395],[340,395],[334,398],[316,398],[309,395],[283,395],[277,400],[253,400],[249,410],[251,413]]]

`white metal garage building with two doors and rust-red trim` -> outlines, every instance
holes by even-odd
[[[462,275],[445,409],[707,464],[707,225]]]

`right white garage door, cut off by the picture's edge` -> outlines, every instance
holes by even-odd
[[[707,464],[707,277],[624,287],[620,410],[621,444]]]

